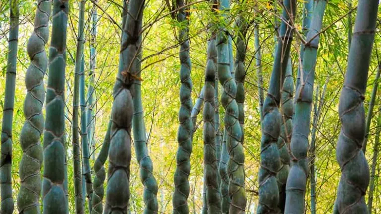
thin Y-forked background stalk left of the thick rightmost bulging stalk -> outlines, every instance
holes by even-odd
[[[325,93],[327,91],[329,78],[327,78],[324,89],[321,94],[321,98],[318,104],[318,87],[316,91],[316,102],[314,104],[314,119],[311,131],[311,142],[310,142],[310,196],[311,196],[311,214],[316,214],[316,180],[315,180],[315,143],[316,143],[316,131],[318,130],[318,122],[320,119],[321,109],[324,105]]]

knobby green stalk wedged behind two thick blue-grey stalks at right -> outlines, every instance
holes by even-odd
[[[294,114],[294,79],[292,77],[292,64],[291,59],[288,58],[285,79],[281,92],[281,127],[278,137],[278,150],[280,156],[281,166],[276,175],[278,188],[279,188],[279,204],[278,207],[281,213],[284,213],[284,206],[286,203],[286,183],[288,173],[290,171],[290,155],[288,152],[288,144],[292,136],[292,116]]]

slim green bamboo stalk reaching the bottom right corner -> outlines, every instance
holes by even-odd
[[[381,131],[381,114],[379,113],[379,116],[377,118],[377,129],[376,129],[375,144],[373,147],[372,166],[371,166],[371,181],[370,181],[369,192],[368,192],[368,213],[372,213],[373,191],[375,190],[376,164],[377,164],[377,156],[379,154],[380,131]]]

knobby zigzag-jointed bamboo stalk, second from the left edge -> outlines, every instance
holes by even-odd
[[[20,134],[23,155],[19,167],[21,180],[17,197],[20,214],[40,214],[41,164],[43,150],[40,143],[44,130],[42,107],[45,101],[44,75],[48,67],[45,44],[49,38],[50,0],[37,0],[34,31],[27,44],[31,64],[26,71],[27,91],[24,101],[25,122]]]

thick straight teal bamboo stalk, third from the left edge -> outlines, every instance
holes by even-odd
[[[52,39],[49,48],[49,76],[46,89],[44,131],[44,175],[42,202],[44,214],[67,214],[67,172],[65,136],[65,67],[68,0],[54,0]]]

